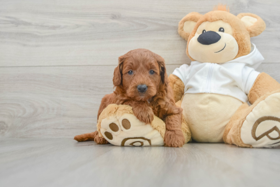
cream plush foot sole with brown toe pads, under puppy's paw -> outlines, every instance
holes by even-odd
[[[163,137],[150,124],[139,121],[133,114],[109,116],[101,121],[101,134],[117,146],[162,146]]]

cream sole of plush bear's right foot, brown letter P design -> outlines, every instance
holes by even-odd
[[[260,101],[241,127],[241,140],[253,147],[280,146],[280,93]]]

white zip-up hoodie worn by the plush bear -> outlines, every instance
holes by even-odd
[[[183,64],[172,74],[183,81],[185,94],[222,94],[247,102],[247,94],[259,75],[255,69],[264,60],[255,44],[251,47],[251,53],[231,61],[222,64],[192,61],[190,66]]]

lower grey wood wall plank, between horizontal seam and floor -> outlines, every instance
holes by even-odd
[[[180,65],[167,65],[170,74]],[[96,129],[115,66],[0,67],[0,137],[72,138]],[[262,64],[280,82],[280,64]]]

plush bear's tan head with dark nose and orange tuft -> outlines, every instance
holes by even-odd
[[[259,16],[235,16],[221,5],[205,15],[189,13],[179,22],[178,33],[188,41],[186,53],[192,61],[225,63],[249,54],[250,37],[264,30],[265,22]]]

